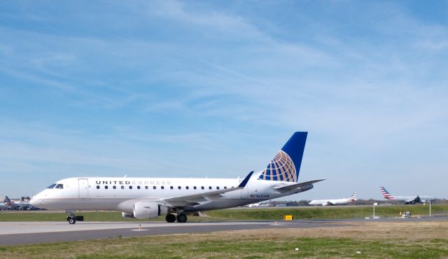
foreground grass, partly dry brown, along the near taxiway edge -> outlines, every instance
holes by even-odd
[[[240,230],[0,246],[1,258],[448,258],[446,222]],[[297,248],[297,250],[296,250]]]

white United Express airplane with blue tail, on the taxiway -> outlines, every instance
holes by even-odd
[[[48,186],[33,206],[65,209],[70,224],[83,221],[76,210],[121,211],[124,218],[166,215],[185,223],[187,213],[225,209],[302,193],[318,179],[297,183],[308,132],[295,132],[267,167],[239,179],[76,177]],[[174,215],[176,214],[176,215]]]

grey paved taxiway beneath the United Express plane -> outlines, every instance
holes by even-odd
[[[165,222],[0,222],[0,245],[272,228],[337,228],[353,222],[448,221],[447,217],[370,220]]]

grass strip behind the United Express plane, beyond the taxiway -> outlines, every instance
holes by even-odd
[[[448,213],[448,204],[436,204],[432,206],[433,214]],[[383,218],[398,216],[400,212],[410,211],[413,216],[426,216],[429,208],[424,205],[395,205],[378,206],[375,215]],[[275,220],[283,215],[293,215],[294,218],[365,218],[372,216],[372,207],[293,207],[293,208],[256,208],[256,209],[221,209],[206,211],[209,217],[190,216],[188,221],[212,221],[212,220]],[[141,221],[127,219],[120,212],[98,211],[80,212],[85,221]],[[65,221],[66,215],[62,212],[0,212],[0,221]],[[165,216],[151,219],[151,221],[165,221]]]

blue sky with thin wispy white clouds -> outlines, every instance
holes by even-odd
[[[244,177],[308,131],[300,181],[328,180],[287,200],[448,197],[447,25],[447,1],[3,1],[0,195]]]

